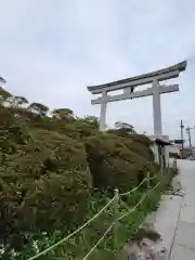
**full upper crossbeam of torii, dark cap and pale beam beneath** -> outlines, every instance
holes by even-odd
[[[136,87],[142,84],[147,84],[153,82],[154,80],[162,81],[171,78],[179,77],[179,74],[181,72],[184,72],[186,68],[186,61],[183,61],[181,63],[178,63],[173,66],[159,69],[153,73],[148,74],[142,74],[140,76],[135,76],[132,78],[126,78],[104,84],[96,84],[96,86],[89,86],[88,90],[92,94],[99,94],[102,93],[103,90],[106,90],[106,92],[120,90],[128,87]]]

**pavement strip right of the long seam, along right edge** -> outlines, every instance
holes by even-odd
[[[195,161],[178,160],[185,196],[177,224],[171,260],[195,260]],[[167,216],[169,218],[169,216]]]

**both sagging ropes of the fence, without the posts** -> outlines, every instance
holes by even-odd
[[[156,177],[155,177],[156,178]],[[130,192],[127,193],[121,193],[119,194],[119,196],[126,196],[129,194],[132,194],[133,192],[135,192],[145,181],[152,180],[154,178],[145,178],[136,187],[132,188]],[[133,212],[139,205],[142,204],[142,202],[145,199],[145,197],[147,196],[147,194],[152,191],[154,191],[158,185],[160,184],[160,182],[158,182],[156,184],[155,187],[153,187],[152,190],[150,190],[148,192],[144,193],[144,195],[142,196],[142,198],[140,199],[140,202],[130,210],[128,210],[128,212],[126,212],[125,214],[122,214],[120,218],[117,219],[117,221],[123,219],[126,216],[128,216],[129,213]],[[66,237],[64,237],[63,239],[61,239],[60,242],[55,243],[54,245],[48,247],[47,249],[42,250],[41,252],[37,253],[34,257],[28,258],[28,260],[34,260],[39,258],[42,255],[46,255],[47,252],[49,252],[50,250],[52,250],[53,248],[57,247],[58,245],[63,244],[64,242],[68,240],[70,237],[73,237],[75,234],[77,234],[79,231],[83,230],[86,226],[88,226],[93,220],[95,220],[110,204],[113,204],[115,200],[117,199],[117,196],[115,195],[95,216],[93,216],[89,221],[87,221],[84,224],[82,224],[79,229],[77,229],[76,231],[74,231],[73,233],[70,233],[69,235],[67,235]],[[106,230],[106,232],[103,234],[103,236],[99,239],[99,242],[91,248],[91,250],[88,252],[88,255],[82,259],[82,260],[87,260],[87,258],[93,252],[93,250],[100,245],[100,243],[104,239],[104,237],[107,235],[107,233],[112,230],[112,227],[114,226],[115,223],[112,223],[110,226]]]

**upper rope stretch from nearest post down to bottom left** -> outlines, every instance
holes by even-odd
[[[34,257],[28,258],[28,260],[34,260],[37,259],[38,257],[47,253],[48,251],[52,250],[53,248],[55,248],[56,246],[61,245],[62,243],[68,240],[72,236],[74,236],[75,234],[77,234],[79,231],[81,231],[82,229],[84,229],[87,225],[89,225],[93,220],[95,220],[114,200],[116,199],[116,196],[113,197],[105,206],[104,208],[102,208],[99,213],[96,213],[93,218],[91,218],[88,222],[86,222],[83,225],[81,225],[78,230],[74,231],[72,234],[69,234],[68,236],[64,237],[63,239],[61,239],[60,242],[55,243],[54,245],[52,245],[51,247],[44,249],[43,251],[37,253]]]

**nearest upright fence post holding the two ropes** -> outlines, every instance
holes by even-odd
[[[116,199],[114,202],[114,232],[113,232],[113,238],[114,238],[114,249],[118,251],[118,202],[119,202],[119,193],[118,188],[115,188],[115,196]]]

